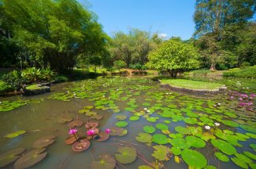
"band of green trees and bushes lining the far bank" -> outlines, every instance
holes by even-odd
[[[256,64],[254,0],[196,0],[194,37],[166,39],[131,28],[108,37],[76,0],[0,0],[0,67],[70,74],[74,67],[177,72]]]

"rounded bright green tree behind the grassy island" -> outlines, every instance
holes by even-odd
[[[199,54],[192,45],[170,39],[149,53],[147,66],[167,70],[172,77],[176,77],[178,72],[199,68],[198,58]]]

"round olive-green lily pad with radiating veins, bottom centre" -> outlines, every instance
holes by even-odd
[[[115,154],[115,159],[118,160],[120,164],[133,163],[133,161],[137,158],[136,149],[129,146],[120,147],[117,151],[119,153]]]

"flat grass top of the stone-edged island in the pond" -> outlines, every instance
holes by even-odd
[[[205,81],[192,81],[186,79],[163,79],[161,83],[168,84],[175,87],[191,88],[191,89],[218,89],[222,85],[218,83],[210,83]]]

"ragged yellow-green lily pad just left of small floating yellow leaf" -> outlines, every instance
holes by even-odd
[[[169,153],[170,148],[167,146],[159,145],[159,146],[153,146],[154,153],[152,153],[152,156],[155,157],[156,160],[170,160]]]

